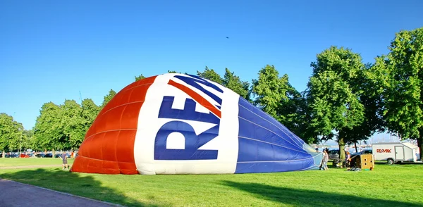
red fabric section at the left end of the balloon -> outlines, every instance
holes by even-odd
[[[138,115],[155,78],[129,84],[104,106],[85,134],[72,172],[138,173],[134,159]]]

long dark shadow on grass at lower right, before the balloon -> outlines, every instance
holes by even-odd
[[[354,195],[332,194],[307,189],[274,187],[266,184],[223,181],[223,184],[256,194],[263,199],[294,206],[422,206],[401,201],[362,198]],[[370,196],[370,195],[369,195]]]

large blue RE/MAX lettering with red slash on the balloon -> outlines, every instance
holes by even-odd
[[[176,78],[179,80],[183,80],[185,84],[188,84],[196,89],[199,89],[207,96],[211,97],[217,103],[221,104],[221,98],[209,92],[207,89],[204,89],[200,84],[207,85],[212,89],[215,89],[217,92],[223,93],[223,91],[214,84],[207,82],[206,80],[202,80],[200,77],[185,77],[176,75]],[[181,89],[186,94],[190,96],[195,96],[197,99],[205,100],[200,94],[192,91],[186,86],[181,84],[177,84],[176,82],[169,82],[169,84]],[[195,94],[193,94],[195,93]],[[155,142],[154,142],[154,159],[155,160],[211,160],[217,159],[217,150],[206,150],[199,148],[207,142],[210,142],[212,139],[216,138],[219,135],[219,127],[220,127],[220,106],[218,108],[213,108],[213,113],[210,111],[209,113],[200,113],[195,111],[195,107],[198,104],[193,99],[185,99],[184,108],[175,109],[172,108],[174,96],[164,96],[163,100],[161,101],[161,106],[159,109],[158,118],[171,118],[176,119],[172,120],[168,123],[162,125],[159,131],[156,134]],[[196,99],[196,100],[197,100]],[[198,101],[198,100],[197,100]],[[201,101],[204,108],[211,108],[215,107],[208,101]],[[206,104],[208,102],[209,104]],[[216,113],[217,111],[217,113]],[[212,123],[216,124],[214,127],[211,127],[209,130],[202,132],[201,134],[196,134],[194,127],[192,125],[182,121],[182,120],[193,120],[199,121],[203,123]],[[185,147],[184,149],[167,149],[167,139],[168,136],[173,133],[178,132],[183,135],[185,138]]]

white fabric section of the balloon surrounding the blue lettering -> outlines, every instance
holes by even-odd
[[[214,173],[234,173],[236,162],[238,159],[238,100],[239,95],[225,87],[218,85],[223,89],[223,94],[216,92],[210,87],[203,87],[213,92],[222,99],[221,106],[221,122],[219,136],[212,141],[204,144],[200,149],[218,150],[216,160],[189,160],[189,161],[164,161],[154,160],[154,140],[159,128],[171,120],[169,118],[158,118],[159,108],[163,96],[176,96],[172,108],[182,109],[185,99],[192,99],[190,96],[182,92],[180,89],[168,85],[168,80],[183,84],[198,94],[202,95],[213,104],[218,104],[211,97],[202,93],[200,90],[191,87],[185,82],[172,78],[174,73],[159,75],[154,83],[149,87],[145,103],[143,103],[138,117],[137,134],[135,136],[134,156],[137,170],[142,175],[155,174],[214,174]],[[178,74],[181,75],[181,74]],[[184,75],[188,76],[188,75]],[[195,111],[208,112],[207,108],[197,103]],[[189,123],[195,130],[196,134],[200,134],[215,124],[202,123],[193,120],[180,120]],[[182,134],[173,133],[168,137],[168,149],[181,149],[185,146],[185,139]],[[174,139],[175,138],[175,139]],[[183,143],[180,143],[183,142]]]

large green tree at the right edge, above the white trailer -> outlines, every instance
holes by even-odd
[[[384,119],[390,132],[417,139],[423,154],[423,27],[398,32],[388,49],[377,68],[387,77],[380,84]]]

